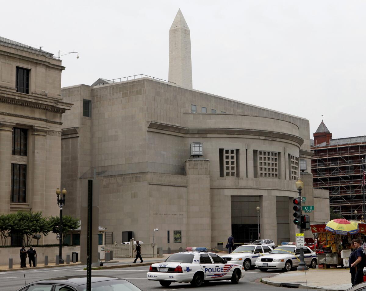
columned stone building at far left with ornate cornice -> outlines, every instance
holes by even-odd
[[[59,215],[61,114],[72,106],[61,97],[63,69],[42,47],[0,37],[0,214]],[[11,240],[22,244],[19,235]]]

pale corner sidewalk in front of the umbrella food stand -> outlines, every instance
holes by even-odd
[[[349,269],[309,269],[290,271],[273,277],[262,278],[262,283],[277,287],[347,290],[352,286]]]

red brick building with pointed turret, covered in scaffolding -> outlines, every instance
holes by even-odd
[[[311,173],[314,188],[329,190],[329,205],[346,219],[363,214],[362,158],[366,160],[366,136],[332,139],[323,120],[311,141]],[[315,206],[316,207],[316,206]]]

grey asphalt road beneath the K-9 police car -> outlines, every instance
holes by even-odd
[[[112,264],[109,264],[112,265]],[[86,275],[83,270],[85,265],[58,267],[48,269],[25,269],[23,271],[0,272],[0,286],[1,291],[15,291],[25,285],[25,282],[31,283],[37,280],[71,276],[71,275]],[[146,279],[146,272],[149,266],[131,267],[131,268],[117,268],[105,270],[93,270],[93,275],[115,276],[126,279],[138,286],[143,291],[168,291],[168,290],[201,290],[201,291],[219,291],[219,290],[251,290],[251,291],[293,291],[293,288],[278,288],[266,285],[259,282],[254,282],[262,277],[273,276],[283,271],[273,270],[268,272],[261,272],[258,269],[251,269],[245,273],[245,276],[240,279],[239,284],[233,285],[230,281],[210,282],[202,287],[194,288],[187,283],[172,283],[169,287],[160,286],[159,282],[148,281]],[[25,276],[25,278],[24,278]],[[258,281],[258,280],[257,280]],[[322,290],[324,291],[324,290]]]

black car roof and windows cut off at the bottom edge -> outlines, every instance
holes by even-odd
[[[141,291],[127,280],[109,276],[92,276],[92,291]],[[86,291],[86,276],[66,276],[40,280],[17,291]]]

